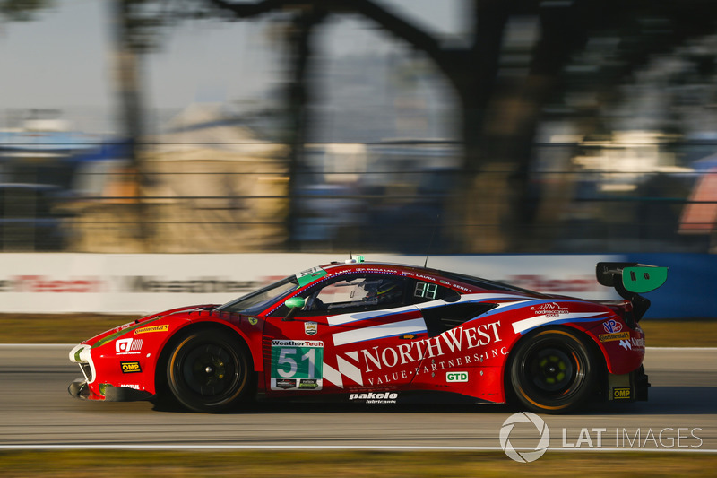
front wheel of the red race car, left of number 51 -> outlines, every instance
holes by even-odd
[[[237,404],[246,395],[250,374],[245,348],[215,329],[182,337],[168,356],[168,389],[194,412],[224,412]]]

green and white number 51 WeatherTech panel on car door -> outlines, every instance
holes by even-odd
[[[321,390],[324,343],[272,340],[272,390]]]

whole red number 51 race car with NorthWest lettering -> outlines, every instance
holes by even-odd
[[[514,403],[563,413],[647,399],[649,307],[665,267],[600,263],[624,300],[590,301],[356,256],[224,305],[173,309],[70,352],[91,400],[220,412],[251,400]]]

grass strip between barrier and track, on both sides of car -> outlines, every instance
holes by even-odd
[[[0,343],[80,343],[139,316],[0,314]],[[650,320],[640,326],[652,347],[717,347],[717,319]]]

